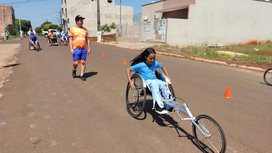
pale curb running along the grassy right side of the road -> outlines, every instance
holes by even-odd
[[[144,50],[144,49],[136,49],[136,48],[132,48],[132,47],[123,47],[123,46],[108,43],[108,42],[96,42],[96,43],[103,44],[103,45],[108,45],[108,46],[116,46],[116,47],[120,47],[120,48],[127,48],[127,49],[134,49],[134,50]],[[177,55],[177,54],[163,53],[163,52],[156,52],[156,53],[162,54],[162,55],[186,58],[186,56],[181,56],[181,55]],[[262,69],[262,68],[259,68],[259,67],[247,67],[245,65],[237,66],[236,64],[227,64],[226,62],[221,62],[221,61],[217,61],[217,60],[208,60],[208,59],[198,58],[198,57],[190,57],[190,59],[209,62],[209,63],[215,63],[215,64],[222,64],[222,65],[227,65],[227,66],[232,66],[232,67],[245,68],[245,69],[256,70],[256,71],[263,71],[263,72],[266,71],[266,69]]]

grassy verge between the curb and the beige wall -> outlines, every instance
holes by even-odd
[[[247,45],[247,46],[223,46],[223,47],[196,47],[196,46],[170,46],[155,45],[153,48],[158,52],[172,53],[186,57],[199,57],[211,60],[224,61],[227,64],[261,67],[272,67],[272,43]],[[219,51],[233,52],[232,55],[219,53]],[[243,53],[245,55],[237,55]]]

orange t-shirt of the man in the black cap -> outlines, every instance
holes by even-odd
[[[73,49],[87,48],[86,39],[89,39],[89,33],[85,27],[72,27],[69,37],[73,38]]]

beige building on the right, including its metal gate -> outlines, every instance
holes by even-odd
[[[161,0],[142,5],[138,41],[172,45],[231,45],[272,40],[272,2],[263,0]],[[154,20],[154,15],[159,15]],[[159,23],[158,25],[153,23]],[[165,25],[163,23],[166,22]],[[143,25],[145,27],[143,27]],[[161,32],[156,33],[156,29]],[[154,40],[147,38],[157,34]],[[158,34],[162,35],[161,39]],[[163,35],[165,34],[165,40]],[[135,42],[135,38],[119,38]]]

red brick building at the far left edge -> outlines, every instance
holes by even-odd
[[[2,20],[2,8],[0,5],[0,15],[1,15],[1,19],[0,19],[0,35],[1,37],[3,37],[4,34],[4,28],[3,28],[3,20]],[[7,27],[10,24],[15,25],[15,13],[14,13],[14,9],[11,5],[3,5],[3,15],[4,15],[4,23],[5,23],[5,27]]]

